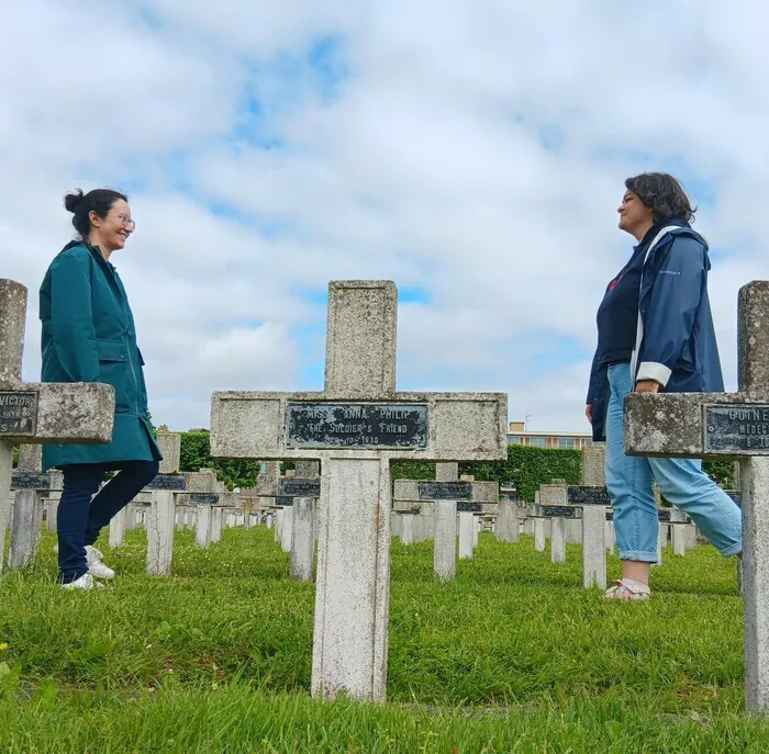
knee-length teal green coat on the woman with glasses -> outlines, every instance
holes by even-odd
[[[144,360],[118,272],[98,247],[71,243],[40,289],[43,382],[105,382],[115,389],[109,444],[43,446],[43,469],[160,459],[147,419]]]

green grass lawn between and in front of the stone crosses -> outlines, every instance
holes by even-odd
[[[744,713],[734,560],[665,551],[649,603],[582,589],[579,545],[481,534],[457,578],[392,541],[387,704],[310,697],[314,585],[259,526],[144,574],[146,538],[98,547],[118,578],[54,584],[53,534],[0,582],[0,752],[766,752]],[[617,577],[616,555],[609,560]]]

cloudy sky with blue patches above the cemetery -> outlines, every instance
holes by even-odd
[[[623,181],[679,176],[736,295],[769,279],[769,13],[733,0],[5,0],[0,277],[36,291],[64,193],[110,185],[151,410],[322,390],[328,280],[400,291],[401,390],[493,390],[586,430],[594,312],[631,252]]]

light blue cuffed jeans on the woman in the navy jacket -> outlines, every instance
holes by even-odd
[[[625,455],[623,408],[625,396],[631,392],[629,364],[612,364],[609,384],[606,488],[614,507],[620,558],[647,563],[657,561],[659,519],[651,487],[655,480],[665,498],[690,516],[722,555],[740,553],[742,511],[702,471],[702,461]]]

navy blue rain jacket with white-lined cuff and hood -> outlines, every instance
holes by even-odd
[[[710,268],[705,239],[683,221],[668,223],[644,262],[633,384],[655,380],[666,393],[724,390],[707,297]],[[609,378],[600,340],[587,403],[593,406],[593,440],[604,441]]]

